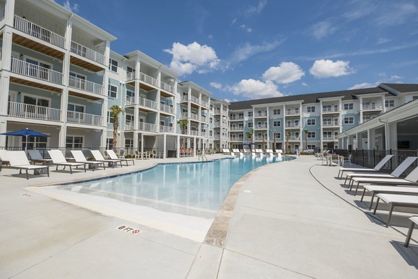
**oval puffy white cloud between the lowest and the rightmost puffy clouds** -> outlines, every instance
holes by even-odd
[[[281,62],[277,67],[270,67],[263,73],[264,80],[272,80],[281,84],[288,84],[300,80],[304,72],[293,62]]]

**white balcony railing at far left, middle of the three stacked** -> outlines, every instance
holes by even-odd
[[[23,60],[12,58],[12,72],[54,84],[63,84],[63,74]]]

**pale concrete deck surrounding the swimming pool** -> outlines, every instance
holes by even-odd
[[[211,158],[226,156],[212,156]],[[167,159],[164,162],[196,158]],[[134,167],[28,181],[0,172],[0,278],[417,278],[418,233],[403,247],[408,218],[392,227],[369,215],[335,179],[338,167],[313,156],[260,167],[240,181],[226,239],[184,239],[32,193],[27,186],[109,176]],[[319,165],[318,165],[319,164]],[[101,172],[101,173],[100,173]],[[317,180],[316,180],[317,179]],[[386,220],[381,206],[377,218]],[[411,216],[412,213],[407,214]],[[215,220],[216,221],[216,220]],[[215,223],[214,223],[215,224]],[[225,225],[227,224],[227,225]],[[118,227],[132,227],[139,234]],[[213,229],[213,228],[212,228]],[[222,228],[219,229],[222,231]]]

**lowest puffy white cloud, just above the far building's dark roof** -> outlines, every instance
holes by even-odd
[[[284,96],[277,89],[277,86],[270,80],[262,82],[260,80],[241,80],[227,88],[234,95],[239,95],[249,99],[268,98]]]

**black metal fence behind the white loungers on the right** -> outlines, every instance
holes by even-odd
[[[399,164],[408,157],[418,157],[418,150],[368,150],[368,149],[356,149],[356,150],[346,150],[346,149],[334,149],[334,153],[348,158],[351,155],[351,163],[356,165],[361,165],[363,167],[375,167],[378,165],[380,160],[382,160],[387,155],[393,155],[393,158],[382,167],[382,171],[392,172],[396,169]],[[403,176],[408,175],[412,172],[412,169],[418,166],[417,160],[413,163],[406,171],[403,173]]]

